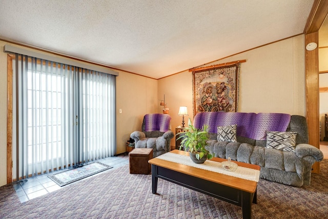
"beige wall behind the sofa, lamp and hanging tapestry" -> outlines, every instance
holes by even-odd
[[[243,52],[210,65],[246,59],[239,77],[238,112],[279,112],[305,116],[304,35]],[[193,120],[192,73],[184,71],[158,80],[166,94],[172,128],[181,125],[179,106]],[[188,117],[187,117],[188,118]],[[171,145],[175,145],[172,141]]]

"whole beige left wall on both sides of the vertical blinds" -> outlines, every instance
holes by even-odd
[[[0,98],[3,101],[0,105],[0,186],[7,184],[7,53],[3,52],[6,44],[9,43],[0,41],[0,76],[2,78]],[[142,117],[146,113],[158,111],[158,88],[156,79],[124,71],[117,72],[119,72],[116,78],[117,153],[123,153],[126,151],[126,141],[129,140],[130,133],[141,130]],[[122,109],[122,113],[119,113],[119,109]]]

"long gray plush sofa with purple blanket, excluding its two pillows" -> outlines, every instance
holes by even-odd
[[[210,139],[207,149],[215,157],[228,158],[244,163],[259,165],[260,178],[301,187],[310,185],[312,165],[322,161],[323,153],[309,145],[308,126],[304,116],[288,115],[288,122],[282,121],[274,113],[239,113],[239,112],[202,112],[196,114],[194,126],[201,128],[209,126]],[[280,115],[280,114],[279,114]],[[286,132],[297,132],[294,151],[283,151],[267,146],[267,131],[275,131],[278,123],[285,123]],[[217,127],[237,125],[237,142],[217,141]],[[264,127],[260,127],[264,126]],[[280,127],[281,128],[281,127]],[[279,131],[279,130],[278,130]],[[281,130],[280,130],[281,131]],[[252,136],[255,136],[252,138]],[[261,136],[261,137],[258,137]]]

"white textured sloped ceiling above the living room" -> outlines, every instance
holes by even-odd
[[[300,34],[313,2],[10,0],[0,38],[161,78]]]

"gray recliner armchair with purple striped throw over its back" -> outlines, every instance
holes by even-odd
[[[152,148],[153,157],[170,151],[171,138],[171,116],[169,114],[146,114],[141,126],[142,131],[134,131],[130,137],[133,138],[135,148]]]

